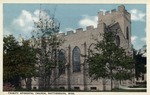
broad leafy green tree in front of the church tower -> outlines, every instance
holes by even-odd
[[[116,40],[117,32],[106,31],[101,34],[103,40],[96,40],[94,50],[89,50],[87,58],[89,63],[89,76],[93,79],[102,78],[105,90],[106,79],[127,80],[131,78],[133,60],[127,56],[125,50],[119,47]]]

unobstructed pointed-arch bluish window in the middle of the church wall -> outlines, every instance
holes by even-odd
[[[73,72],[80,72],[80,49],[76,46],[72,54]]]

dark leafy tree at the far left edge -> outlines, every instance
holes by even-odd
[[[3,39],[3,82],[10,82],[14,86],[19,86],[19,71],[17,58],[19,55],[19,45],[13,35]]]

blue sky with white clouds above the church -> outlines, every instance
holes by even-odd
[[[33,20],[39,17],[39,10],[49,10],[60,22],[60,32],[97,25],[99,11],[117,9],[120,4],[3,4],[3,35],[13,34],[30,38]],[[124,4],[131,13],[131,40],[138,50],[146,45],[146,5]]]

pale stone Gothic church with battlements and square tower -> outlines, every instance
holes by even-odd
[[[65,69],[56,70],[53,73],[53,78],[59,73],[61,75],[52,84],[52,88],[58,89],[73,89],[73,90],[100,90],[103,91],[103,81],[92,80],[88,76],[88,63],[86,58],[81,55],[88,55],[88,50],[93,49],[93,43],[96,43],[94,38],[102,40],[100,33],[105,31],[116,31],[116,44],[123,47],[128,55],[132,55],[131,45],[131,14],[125,9],[124,5],[118,6],[107,12],[98,12],[98,24],[94,26],[87,26],[78,28],[76,31],[68,31],[67,34],[60,33],[59,37],[65,39],[61,46],[60,59],[65,62]],[[66,59],[66,60],[63,60]],[[23,82],[22,82],[23,83]],[[133,81],[123,81],[123,85],[131,86]],[[32,88],[40,88],[40,78],[32,80]],[[107,79],[106,90],[111,90],[110,79]],[[22,86],[25,88],[25,86]],[[119,82],[113,81],[113,88],[118,88]]]

